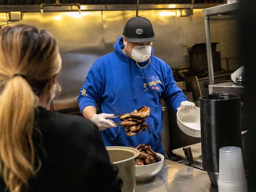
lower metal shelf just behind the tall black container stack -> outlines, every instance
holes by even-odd
[[[245,94],[244,85],[236,85],[233,82],[219,83],[216,85],[209,85],[209,93],[234,93],[234,94]]]

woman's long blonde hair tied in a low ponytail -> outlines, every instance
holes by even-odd
[[[40,169],[34,113],[38,96],[60,69],[58,46],[49,32],[28,25],[0,31],[0,174],[10,192],[26,190]]]

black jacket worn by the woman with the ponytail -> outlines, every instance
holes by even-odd
[[[42,166],[30,179],[29,192],[121,191],[117,167],[109,162],[100,132],[92,122],[38,109],[35,127],[42,135],[35,129],[33,138]],[[0,191],[3,189],[0,181]]]

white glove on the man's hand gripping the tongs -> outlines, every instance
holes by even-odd
[[[114,114],[107,114],[107,113],[100,113],[95,114],[91,118],[91,121],[100,128],[100,130],[105,130],[108,127],[116,127],[116,125],[113,124],[112,120],[109,120],[109,117],[114,116]]]

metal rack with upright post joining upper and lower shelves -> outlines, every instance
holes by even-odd
[[[245,87],[243,85],[236,85],[233,82],[214,85],[213,61],[211,52],[210,20],[238,19],[238,9],[239,2],[203,9],[203,18],[206,31],[209,94],[211,94],[212,92],[244,94]]]

